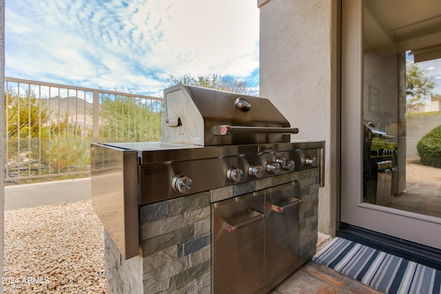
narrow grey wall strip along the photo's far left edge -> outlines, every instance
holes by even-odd
[[[0,0],[0,81],[1,85],[4,85],[5,83],[5,1]],[[4,105],[3,101],[5,99],[5,90],[4,87],[0,87],[0,105]],[[0,134],[5,134],[4,131],[4,114],[3,114],[3,107],[0,107]],[[3,167],[5,166],[5,158],[3,151],[5,150],[5,137],[0,136],[0,150],[1,156],[0,156],[0,274],[1,277],[3,277],[3,229],[4,229],[4,214],[3,211],[5,209],[5,182],[4,182],[4,170]],[[0,286],[0,294],[3,293],[3,285]]]

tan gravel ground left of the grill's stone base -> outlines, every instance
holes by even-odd
[[[5,211],[5,293],[106,293],[90,200]]]

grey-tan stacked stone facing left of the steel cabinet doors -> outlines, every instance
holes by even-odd
[[[140,208],[144,293],[210,287],[209,192]]]

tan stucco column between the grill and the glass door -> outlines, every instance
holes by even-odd
[[[339,207],[338,0],[258,0],[260,96],[300,132],[293,140],[325,140],[325,187],[318,231],[335,235]]]

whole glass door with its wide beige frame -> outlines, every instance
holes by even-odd
[[[441,248],[441,1],[342,1],[341,203]]]

